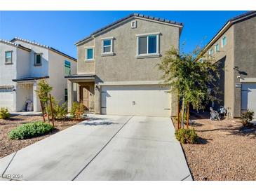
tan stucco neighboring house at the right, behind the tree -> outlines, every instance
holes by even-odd
[[[229,20],[204,50],[224,67],[219,83],[228,116],[250,109],[256,118],[256,11]]]

